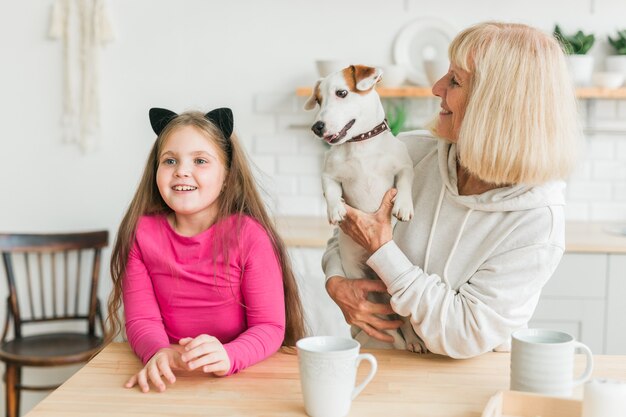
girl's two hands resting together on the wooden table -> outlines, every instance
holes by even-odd
[[[165,391],[163,378],[170,384],[176,382],[174,370],[193,371],[224,376],[230,370],[230,359],[224,345],[217,338],[206,334],[180,339],[178,345],[162,348],[150,358],[141,371],[124,385],[139,385],[143,392],[150,391],[150,383],[160,392]]]

